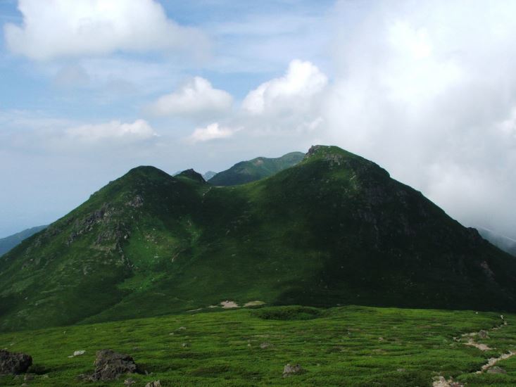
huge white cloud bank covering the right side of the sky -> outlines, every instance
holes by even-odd
[[[514,237],[515,13],[513,1],[341,1],[328,141]]]

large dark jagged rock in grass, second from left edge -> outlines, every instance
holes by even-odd
[[[94,366],[95,372],[82,376],[82,379],[89,381],[114,380],[124,374],[134,374],[138,369],[130,355],[116,353],[113,350],[97,351]]]

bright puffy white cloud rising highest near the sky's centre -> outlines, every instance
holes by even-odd
[[[251,114],[300,110],[313,102],[327,85],[328,78],[313,63],[294,60],[284,77],[275,78],[250,91],[242,108]]]

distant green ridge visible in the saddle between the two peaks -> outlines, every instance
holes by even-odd
[[[214,186],[236,186],[255,182],[296,165],[303,160],[304,156],[305,154],[301,152],[291,152],[279,158],[258,157],[253,160],[241,161],[229,170],[219,172],[208,179],[208,182]]]

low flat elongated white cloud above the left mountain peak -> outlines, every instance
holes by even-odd
[[[158,134],[144,120],[136,120],[132,123],[122,123],[118,120],[103,124],[81,125],[67,129],[65,133],[71,139],[85,142],[96,142],[103,140],[124,140],[139,141],[151,139]]]

